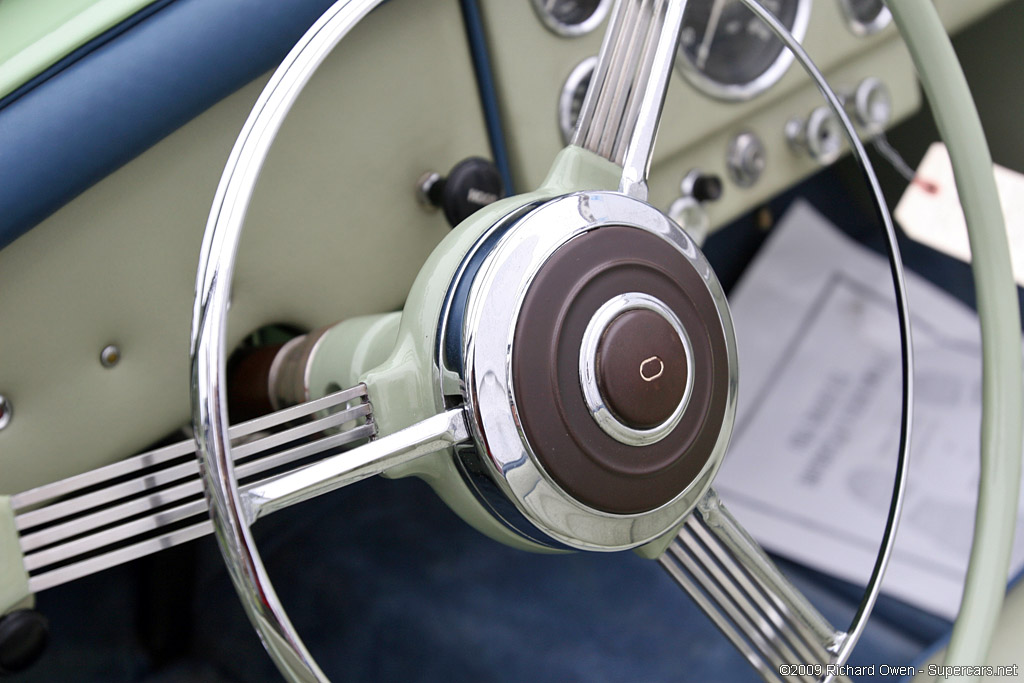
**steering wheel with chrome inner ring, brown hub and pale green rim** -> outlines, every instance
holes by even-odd
[[[712,488],[735,413],[732,323],[692,240],[644,201],[684,0],[616,4],[572,143],[545,182],[451,232],[414,284],[390,357],[332,394],[333,403],[369,403],[360,434],[375,437],[239,486],[224,338],[246,209],[299,92],[381,1],[340,0],[270,79],[228,159],[197,275],[191,386],[204,485],[232,582],[278,667],[290,680],[327,680],[276,598],[251,524],[383,473],[425,478],[464,519],[515,547],[633,549],[658,558],[766,679],[831,680],[826,666],[847,660],[878,595],[902,500],[912,366],[895,232],[866,165],[898,294],[904,428],[880,555],[861,607],[842,631],[786,582]],[[838,98],[797,41],[755,0],[743,1],[807,68],[866,162]],[[965,606],[947,663],[977,664],[998,614],[1016,512],[1020,323],[991,160],[948,39],[927,0],[894,0],[890,8],[938,113],[971,226],[984,339],[983,468]],[[340,388],[331,356],[345,343],[328,331],[284,354],[281,374],[294,397]],[[321,450],[347,436],[329,436]],[[780,669],[797,661],[808,666]]]

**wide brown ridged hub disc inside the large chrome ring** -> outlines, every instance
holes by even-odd
[[[678,404],[680,387],[687,374],[692,375],[678,424],[660,440],[644,445],[616,440],[594,420],[580,371],[581,348],[591,319],[607,301],[631,292],[664,303],[679,319],[691,347],[689,367],[682,365],[685,359],[678,360],[681,354],[671,337],[660,353],[639,352],[620,360],[618,354],[626,354],[621,347],[629,344],[604,339],[601,356],[606,361],[600,390],[609,408],[627,422],[658,422],[667,411],[672,412],[668,405]],[[622,334],[644,337],[641,325],[648,319],[626,317]],[[725,332],[703,274],[660,237],[609,225],[562,245],[526,291],[511,351],[516,413],[526,441],[552,480],[591,508],[614,514],[654,510],[684,492],[715,452],[730,387]],[[651,382],[658,389],[664,386],[665,395],[634,401],[632,380],[621,388],[610,371],[621,364],[624,372],[636,373],[642,382],[640,365],[650,355],[665,362],[662,376]],[[656,374],[655,368],[645,371],[648,377]],[[672,380],[670,373],[680,381]]]

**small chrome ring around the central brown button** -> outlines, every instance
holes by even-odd
[[[637,309],[655,312],[672,326],[672,329],[679,335],[679,340],[683,343],[683,352],[686,353],[686,368],[688,369],[686,387],[683,389],[683,397],[679,400],[679,404],[665,422],[650,429],[635,429],[620,421],[604,402],[601,389],[597,385],[597,347],[605,329],[620,313]],[[690,402],[690,394],[693,393],[693,347],[690,344],[689,335],[686,334],[683,324],[672,312],[672,309],[649,294],[629,292],[612,297],[597,309],[584,332],[583,344],[580,346],[580,384],[587,401],[587,408],[590,409],[594,421],[604,430],[604,433],[616,441],[629,445],[656,443],[668,436],[683,419],[686,405]]]

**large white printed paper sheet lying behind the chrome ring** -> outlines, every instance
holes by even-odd
[[[907,278],[915,416],[906,506],[883,590],[952,617],[977,498],[978,323],[941,290]],[[888,263],[798,203],[730,304],[739,403],[715,486],[766,548],[863,585],[885,525],[899,437]],[[1022,537],[1014,572],[1024,564]]]

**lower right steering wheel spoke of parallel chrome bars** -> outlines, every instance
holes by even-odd
[[[790,584],[714,490],[659,562],[765,680],[816,681],[829,674],[846,634]],[[806,667],[784,668],[790,665]]]

